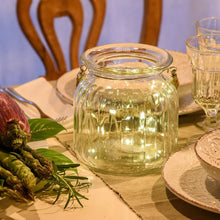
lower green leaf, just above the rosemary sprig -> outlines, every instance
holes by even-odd
[[[74,164],[68,157],[55,150],[39,148],[37,152],[46,157],[49,161],[53,161],[57,167],[63,166],[64,168],[71,168],[79,166],[78,164]]]

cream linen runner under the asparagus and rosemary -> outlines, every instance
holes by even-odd
[[[63,153],[71,160],[77,163],[75,158],[66,150],[66,148],[57,141],[56,138],[47,141],[30,143],[31,147],[50,148]],[[8,198],[0,198],[0,219],[2,220],[86,220],[86,219],[131,219],[138,220],[137,215],[122,202],[118,196],[110,190],[103,181],[81,165],[78,168],[79,175],[86,176],[92,182],[89,190],[81,192],[88,197],[88,200],[81,200],[83,208],[75,201],[64,210],[67,197],[61,198],[52,204],[55,197],[41,195],[31,203],[18,203]]]

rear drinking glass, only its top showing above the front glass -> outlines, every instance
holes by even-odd
[[[220,17],[207,17],[196,21],[197,34],[220,34]]]

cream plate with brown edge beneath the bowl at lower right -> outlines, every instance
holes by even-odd
[[[177,197],[205,210],[220,213],[220,184],[207,176],[191,145],[170,156],[162,176]]]

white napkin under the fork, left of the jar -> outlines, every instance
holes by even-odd
[[[15,90],[24,98],[35,102],[50,118],[55,120],[59,117],[67,116],[65,124],[68,127],[72,126],[73,106],[64,103],[57,96],[56,89],[43,77],[18,86]],[[20,102],[18,104],[29,118],[40,117],[35,107]]]

